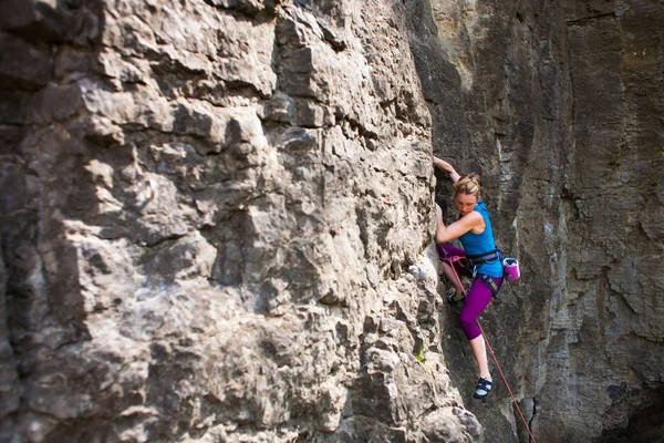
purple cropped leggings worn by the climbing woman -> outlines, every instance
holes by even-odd
[[[450,259],[454,257],[466,257],[466,251],[460,248],[455,248],[450,245],[436,245],[436,249],[438,250],[438,256],[442,259]],[[452,266],[455,268],[457,274],[460,276],[473,277],[473,274],[468,268],[461,265],[460,261],[453,261]],[[496,284],[500,286],[502,284],[502,278],[492,277],[496,280]],[[464,333],[468,340],[473,340],[481,336],[481,331],[477,326],[477,318],[486,309],[486,307],[491,301],[491,297],[494,292],[483,281],[481,278],[476,278],[473,281],[473,286],[470,290],[466,295],[466,301],[464,307],[461,308],[461,313],[459,319],[461,321],[461,328],[464,329]]]

